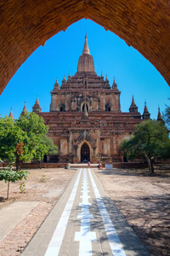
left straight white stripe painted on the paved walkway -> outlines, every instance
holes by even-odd
[[[56,229],[54,230],[54,235],[52,236],[52,239],[49,242],[48,249],[45,253],[45,256],[59,255],[59,249],[61,247],[63,238],[65,236],[65,229],[66,229],[68,219],[71,214],[71,208],[72,208],[73,202],[75,200],[75,196],[77,194],[77,187],[78,187],[78,183],[80,181],[81,173],[82,173],[82,168],[80,169],[80,172],[78,173],[77,181],[74,185],[74,188],[71,191],[71,195],[69,197],[69,200],[67,201],[65,209],[64,209],[61,217],[59,218],[59,223],[58,223]]]

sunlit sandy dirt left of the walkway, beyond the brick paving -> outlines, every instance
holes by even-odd
[[[59,195],[65,189],[75,170],[56,169],[32,169],[25,183],[25,191],[20,190],[20,183],[10,183],[9,199],[7,197],[7,183],[0,181],[0,209],[7,207],[14,201],[57,201]],[[24,189],[23,188],[23,189]]]

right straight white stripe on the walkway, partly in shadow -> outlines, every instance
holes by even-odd
[[[99,194],[99,189],[97,188],[96,183],[94,182],[94,177],[92,176],[90,169],[88,169],[88,173],[89,173],[91,182],[93,184],[94,194],[96,196],[96,200],[99,206],[99,212],[101,214],[101,218],[103,219],[103,222],[105,225],[105,232],[108,236],[112,255],[125,256],[126,253],[122,248],[122,243],[119,239],[119,236],[116,234],[116,229],[111,222],[111,218],[105,208],[104,201],[102,200],[101,195]]]

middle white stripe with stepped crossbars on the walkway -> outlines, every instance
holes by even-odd
[[[96,233],[90,231],[90,218],[94,218],[93,214],[89,213],[88,207],[91,203],[88,202],[88,177],[87,171],[84,169],[83,181],[82,181],[82,203],[79,206],[82,207],[82,213],[77,215],[77,218],[81,219],[81,229],[80,232],[76,232],[75,241],[79,242],[79,255],[80,256],[92,256],[92,241],[96,241]]]

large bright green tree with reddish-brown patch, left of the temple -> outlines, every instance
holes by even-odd
[[[36,113],[25,112],[17,120],[0,118],[0,157],[10,163],[15,161],[17,170],[20,160],[42,158],[48,150],[42,146],[42,137],[47,132],[48,125]]]

